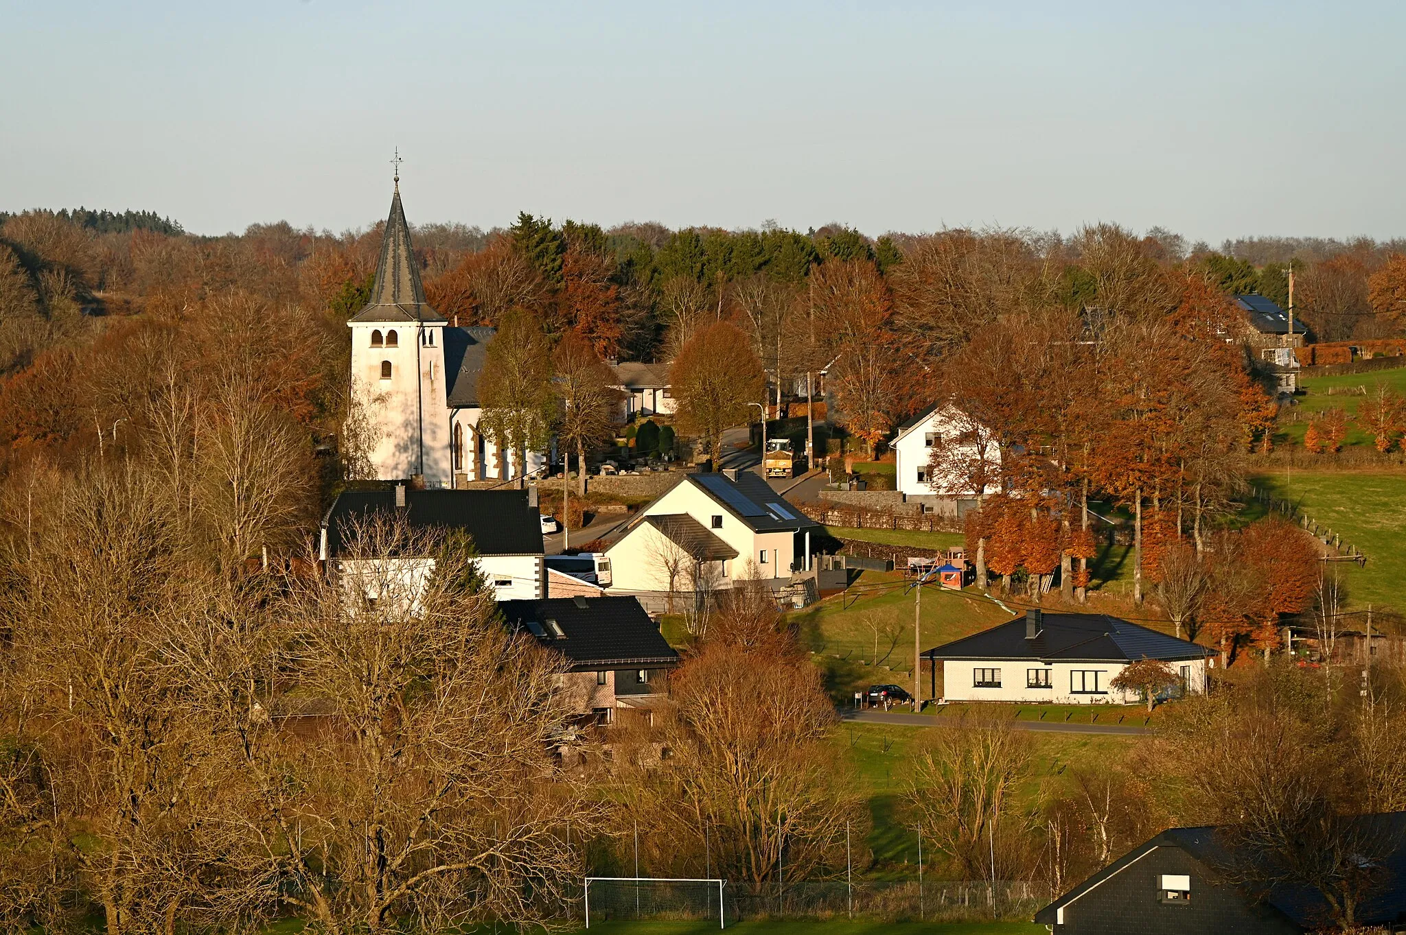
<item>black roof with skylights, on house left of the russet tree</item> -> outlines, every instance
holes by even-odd
[[[513,629],[533,636],[543,630],[537,639],[565,656],[575,671],[636,665],[666,668],[679,661],[679,654],[665,642],[638,598],[502,601],[498,609]],[[547,621],[555,621],[561,637],[553,637],[543,626]]]

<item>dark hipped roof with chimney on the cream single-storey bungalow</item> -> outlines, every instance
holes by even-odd
[[[1215,650],[1104,614],[1042,614],[1033,640],[1025,639],[1025,616],[943,643],[929,658],[1132,663],[1140,658],[1182,660]]]

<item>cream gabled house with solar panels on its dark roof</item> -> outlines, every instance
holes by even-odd
[[[713,591],[740,578],[782,587],[794,573],[810,571],[811,533],[818,532],[751,472],[685,475],[606,550],[609,592]]]

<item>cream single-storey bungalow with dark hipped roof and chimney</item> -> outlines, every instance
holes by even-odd
[[[948,701],[1097,705],[1136,702],[1112,681],[1143,658],[1167,663],[1182,692],[1205,692],[1215,650],[1115,616],[1032,609],[922,656],[934,664],[934,682],[942,663]]]

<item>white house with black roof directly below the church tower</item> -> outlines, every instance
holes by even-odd
[[[375,517],[402,518],[411,529],[463,532],[472,542],[479,574],[499,601],[547,595],[537,489],[527,490],[344,490],[322,519],[319,557],[368,599],[381,588],[413,595],[434,570],[432,556],[364,556],[350,542]],[[356,555],[356,557],[350,557]],[[377,591],[377,592],[373,592]]]

